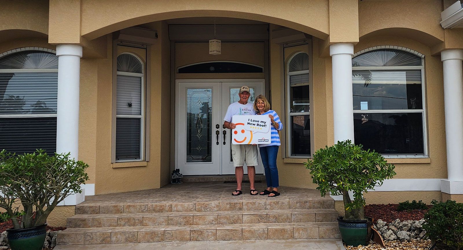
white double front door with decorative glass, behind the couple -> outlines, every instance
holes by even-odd
[[[231,133],[224,128],[228,105],[239,88],[250,88],[249,102],[263,94],[263,80],[176,80],[175,168],[184,175],[234,174]],[[166,145],[167,146],[167,145]],[[244,172],[247,172],[244,165]],[[256,173],[263,173],[259,155]]]

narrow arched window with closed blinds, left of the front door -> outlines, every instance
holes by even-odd
[[[144,124],[144,65],[135,55],[117,57],[116,160],[141,160]]]

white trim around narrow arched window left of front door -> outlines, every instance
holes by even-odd
[[[117,47],[116,47],[116,50],[117,50]],[[123,54],[128,54],[128,55],[131,55],[133,57],[135,57],[139,62],[140,64],[142,65],[142,73],[132,73],[132,72],[123,72],[123,71],[116,71],[115,72],[115,79],[114,79],[114,82],[113,82],[113,88],[115,89],[115,91],[113,91],[113,104],[114,104],[114,125],[113,125],[113,130],[114,130],[114,140],[113,140],[113,152],[114,152],[114,155],[112,156],[112,163],[117,163],[117,162],[137,162],[137,161],[144,161],[145,158],[146,158],[146,154],[145,154],[145,129],[146,129],[146,124],[145,124],[145,113],[146,113],[146,81],[145,81],[145,67],[146,65],[143,63],[143,61],[135,54],[133,53],[130,53],[130,52],[123,52],[121,53],[120,55],[123,55]],[[119,55],[117,55],[117,52],[116,52],[116,58],[115,58],[115,62],[116,62],[116,65],[114,67],[116,67],[117,69],[117,57]],[[140,115],[118,115],[117,114],[117,76],[118,75],[124,75],[124,76],[133,76],[133,77],[140,77],[141,79],[141,100],[140,100]],[[140,155],[139,155],[139,159],[124,159],[124,160],[118,160],[116,159],[116,140],[115,140],[115,137],[116,137],[116,121],[117,119],[116,118],[140,118]]]

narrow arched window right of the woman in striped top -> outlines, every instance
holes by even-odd
[[[290,156],[309,156],[311,153],[309,55],[302,51],[292,55],[286,71],[289,121],[287,131],[288,145],[290,145],[288,153]]]

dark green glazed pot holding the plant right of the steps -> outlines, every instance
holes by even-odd
[[[339,231],[346,245],[358,246],[368,245],[371,239],[373,222],[371,218],[366,220],[343,220],[342,216],[338,217]]]

